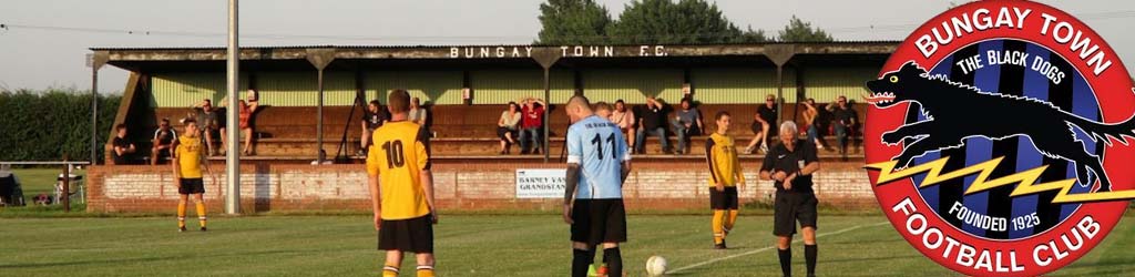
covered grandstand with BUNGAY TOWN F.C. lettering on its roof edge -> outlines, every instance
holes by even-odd
[[[797,109],[798,100],[813,98],[827,103],[838,95],[858,99],[865,92],[864,81],[876,76],[896,45],[897,42],[824,42],[244,48],[238,86],[242,92],[257,90],[262,109],[254,116],[257,156],[242,157],[245,160],[242,163],[257,168],[309,163],[317,158],[320,148],[329,159],[337,158],[337,163],[359,163],[360,157],[347,154],[359,148],[362,103],[377,99],[385,104],[389,90],[406,89],[413,96],[421,98],[429,110],[431,129],[436,133],[434,157],[443,168],[439,170],[444,170],[446,163],[461,168],[493,163],[493,168],[504,168],[502,170],[531,167],[543,163],[544,157],[497,154],[495,124],[508,101],[544,98],[545,82],[549,85],[547,126],[552,134],[547,152],[553,163],[558,161],[563,131],[569,125],[558,108],[574,93],[592,101],[622,99],[629,106],[644,103],[646,96],[654,95],[674,108],[689,93],[704,117],[712,117],[720,110],[730,111],[735,125],[731,133],[742,143],[753,137],[748,126],[764,95],[781,95],[781,120],[802,120]],[[221,103],[226,98],[224,48],[98,48],[92,51],[107,64],[131,72],[115,123],[131,127],[129,138],[140,150],[150,149],[150,136],[158,119],[185,117],[190,107],[202,99]],[[549,68],[548,79],[537,62],[537,58],[544,56],[558,58]],[[318,79],[317,67],[309,61],[314,58],[331,60],[323,69],[322,83]],[[320,91],[323,91],[322,107],[319,106]],[[865,106],[855,108],[860,117],[865,115]],[[321,118],[317,116],[320,109]],[[318,127],[320,123],[322,129]],[[713,120],[705,123],[706,129],[712,132]],[[834,141],[830,133],[826,138]],[[704,167],[704,137],[691,140],[692,153],[687,156],[657,154],[659,143],[656,140],[648,138],[648,154],[636,158],[645,162],[640,163],[647,167],[642,170],[650,170],[651,165],[666,168],[676,165],[687,170]],[[673,142],[674,137],[671,140]],[[858,169],[863,161],[861,150],[850,153],[846,163],[840,159],[843,157],[829,152],[822,152],[822,159],[842,163],[835,168],[848,168],[844,175],[863,175],[863,183],[852,181],[850,185],[866,184],[865,174]],[[759,158],[759,154],[747,154],[742,159],[748,168],[755,169]],[[222,163],[224,159],[218,157],[213,162]],[[554,165],[538,167],[550,166]],[[351,170],[350,167],[336,168]],[[502,178],[508,181],[511,176]],[[100,179],[92,179],[92,183],[100,183]],[[869,187],[866,190],[867,198],[851,202],[869,202]],[[92,209],[101,209],[96,199],[92,202]]]

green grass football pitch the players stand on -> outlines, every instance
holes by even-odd
[[[192,212],[191,212],[192,213]],[[707,216],[632,215],[623,257],[642,276],[650,255],[671,269],[747,252],[672,276],[777,276],[767,216],[742,216],[728,251],[712,250]],[[955,275],[902,241],[881,216],[821,217],[819,268],[834,276]],[[0,219],[0,272],[7,276],[376,276],[381,253],[364,216],[215,216],[210,232],[177,233],[173,218]],[[858,227],[857,227],[858,226]],[[190,227],[195,227],[191,220]],[[857,228],[856,228],[857,227]],[[846,230],[839,235],[827,233]],[[436,229],[442,276],[564,276],[571,251],[556,216],[443,216]],[[1135,271],[1135,225],[1125,219],[1059,276]],[[802,246],[793,269],[804,274]],[[412,259],[402,265],[412,269]],[[402,276],[413,276],[404,270]]]

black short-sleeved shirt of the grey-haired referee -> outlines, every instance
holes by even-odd
[[[797,140],[796,151],[788,151],[788,148],[783,143],[776,144],[768,150],[765,154],[765,161],[760,165],[762,171],[785,171],[788,175],[793,173],[799,173],[805,166],[812,162],[819,161],[816,157],[816,146],[808,142],[808,140]],[[775,170],[774,170],[775,169]],[[781,185],[780,181],[774,181],[776,185],[776,192],[783,192],[784,186]],[[797,175],[796,179],[792,179],[792,190],[789,192],[799,193],[813,193],[812,191],[812,175]]]

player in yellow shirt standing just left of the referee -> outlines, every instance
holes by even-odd
[[[729,132],[730,115],[718,111],[714,118],[717,132],[706,141],[706,162],[709,165],[709,207],[713,209],[713,243],[725,249],[725,235],[737,223],[737,185],[745,188],[745,174],[737,158],[737,145]]]

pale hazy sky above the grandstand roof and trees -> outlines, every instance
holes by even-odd
[[[617,18],[630,0],[597,0]],[[792,15],[836,40],[902,40],[966,1],[716,0],[725,17],[775,35]],[[541,0],[245,0],[241,45],[527,44]],[[1135,72],[1135,1],[1041,1],[1094,28]],[[227,1],[6,0],[0,3],[0,90],[91,86],[89,48],[224,47]],[[99,72],[100,92],[121,92],[127,72]]]

